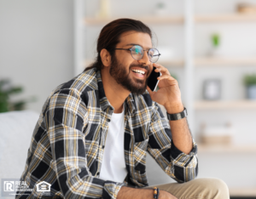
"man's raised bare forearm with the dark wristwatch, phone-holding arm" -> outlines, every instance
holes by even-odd
[[[167,107],[166,111],[170,114],[174,114],[183,111],[183,109],[183,105],[177,105],[173,107]],[[193,148],[193,145],[187,118],[169,122],[172,130],[172,141],[174,145],[178,150],[183,151],[185,154],[189,154]]]

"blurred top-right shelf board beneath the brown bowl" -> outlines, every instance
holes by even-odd
[[[195,16],[195,23],[206,22],[256,22],[256,14],[207,14]]]

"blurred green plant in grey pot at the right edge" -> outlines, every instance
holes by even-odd
[[[247,99],[256,99],[256,74],[245,75],[243,82],[247,87]]]

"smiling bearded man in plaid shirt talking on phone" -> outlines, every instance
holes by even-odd
[[[46,100],[20,179],[34,190],[16,198],[153,198],[146,151],[170,177],[187,182],[158,186],[158,198],[228,198],[222,181],[195,179],[197,148],[180,90],[153,63],[159,54],[152,46],[141,21],[103,27],[96,62]],[[153,66],[162,74],[157,92],[147,87]],[[34,188],[42,181],[51,185],[48,197]]]

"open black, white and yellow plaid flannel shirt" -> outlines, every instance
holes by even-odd
[[[169,122],[148,91],[125,99],[124,183],[99,179],[112,114],[96,69],[55,88],[32,134],[20,179],[33,191],[17,192],[16,198],[48,198],[36,190],[42,181],[51,185],[49,198],[116,198],[123,185],[148,185],[146,151],[177,182],[195,179],[195,141],[189,155],[173,145]]]

